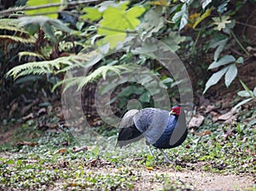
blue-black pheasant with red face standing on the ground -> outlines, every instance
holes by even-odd
[[[137,142],[145,137],[148,145],[160,148],[175,148],[186,139],[188,129],[186,127],[185,113],[182,107],[172,107],[171,112],[160,108],[144,108],[142,110],[130,110],[125,113],[119,125],[118,145],[122,148],[131,142]],[[150,153],[151,149],[149,148]]]

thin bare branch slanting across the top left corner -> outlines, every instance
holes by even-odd
[[[64,3],[65,5],[79,5],[84,3],[93,3],[98,2],[99,0],[81,0],[77,2],[70,2],[70,3]],[[51,8],[51,7],[59,7],[63,5],[63,3],[51,3],[51,4],[44,4],[40,6],[32,6],[32,7],[21,7],[21,8],[15,8],[15,9],[7,9],[0,11],[0,15],[2,16],[8,16],[9,14],[17,11],[23,11],[23,10],[34,10],[34,9],[44,9],[44,8]]]

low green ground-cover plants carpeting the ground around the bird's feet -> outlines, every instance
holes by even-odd
[[[208,132],[209,127],[211,132]],[[32,126],[26,126],[26,130],[30,130],[35,138],[27,136],[24,130],[17,130],[15,134],[20,136],[13,140],[11,144],[14,145],[0,148],[0,188],[127,190],[140,188],[147,171],[160,170],[163,172],[148,176],[147,181],[160,183],[159,189],[193,189],[191,182],[172,181],[171,169],[240,175],[255,172],[256,131],[242,124],[230,129],[227,125],[219,128],[219,125],[205,123],[200,131],[190,133],[181,147],[166,150],[174,165],[166,165],[163,156],[155,149],[157,159],[154,160],[143,141],[119,149],[114,148],[115,135],[93,136],[88,131],[74,139],[67,130],[44,134],[32,130]],[[36,144],[33,147],[15,146],[19,139]],[[81,146],[87,146],[88,150],[76,153],[75,148]]]

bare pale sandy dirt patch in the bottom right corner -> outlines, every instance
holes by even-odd
[[[150,190],[150,188],[161,188],[160,185],[148,182],[150,177],[155,174],[167,173],[171,180],[179,180],[186,184],[192,185],[195,190],[252,190],[253,177],[236,176],[236,175],[219,175],[203,171],[173,171],[166,169],[164,171],[149,171],[144,173],[145,182],[137,184],[135,190]]]

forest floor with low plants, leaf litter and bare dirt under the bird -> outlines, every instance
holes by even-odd
[[[154,159],[143,141],[115,148],[116,129],[80,135],[53,126],[60,115],[42,109],[39,118],[3,122],[0,190],[256,190],[256,107],[230,112],[241,101],[237,85],[198,97],[187,140],[166,150],[173,164],[157,149]]]

